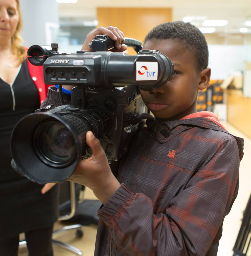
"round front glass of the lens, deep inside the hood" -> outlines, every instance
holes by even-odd
[[[47,121],[38,126],[33,137],[39,158],[47,163],[61,166],[70,164],[76,156],[76,144],[69,129],[59,121]]]

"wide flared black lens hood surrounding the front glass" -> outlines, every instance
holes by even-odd
[[[33,136],[41,123],[48,120],[61,122],[71,132],[77,152],[72,162],[66,166],[50,166],[41,161],[34,148]],[[63,182],[68,179],[82,159],[82,137],[77,129],[70,125],[60,115],[49,112],[32,113],[22,118],[14,127],[10,138],[10,150],[16,166],[30,180],[45,184],[48,182]]]

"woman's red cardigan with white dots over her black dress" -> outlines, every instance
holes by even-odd
[[[26,50],[28,50],[28,48],[26,48]],[[34,66],[28,61],[28,59],[26,61],[28,63],[30,77],[37,86],[37,90],[39,92],[40,104],[42,104],[46,99],[48,88],[53,85],[44,83],[43,66]]]

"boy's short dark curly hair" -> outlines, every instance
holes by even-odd
[[[177,39],[186,44],[198,62],[199,70],[208,66],[208,45],[199,28],[183,21],[171,21],[154,27],[145,37],[144,42],[151,39]]]

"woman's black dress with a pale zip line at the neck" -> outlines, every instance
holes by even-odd
[[[20,176],[10,166],[11,131],[18,120],[39,106],[27,61],[22,63],[12,86],[0,78],[0,240],[49,227],[58,218],[57,185],[43,195],[43,185]]]

